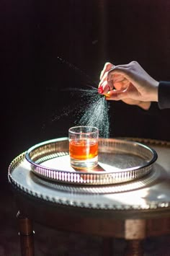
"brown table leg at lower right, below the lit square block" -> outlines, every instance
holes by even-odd
[[[128,240],[125,256],[143,256],[142,241],[143,240]]]

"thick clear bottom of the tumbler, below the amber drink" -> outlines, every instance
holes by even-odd
[[[89,169],[92,167],[96,167],[98,164],[98,156],[92,158],[92,159],[86,159],[86,160],[77,160],[71,158],[71,167],[76,169]]]

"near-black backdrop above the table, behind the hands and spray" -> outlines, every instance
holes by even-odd
[[[170,81],[169,0],[2,0],[1,186],[15,156],[41,141],[68,136],[73,115],[53,118],[83,87],[99,82],[104,63],[138,61],[158,80]],[[78,67],[72,69],[58,56]],[[155,114],[111,102],[110,136],[170,139],[170,110]]]

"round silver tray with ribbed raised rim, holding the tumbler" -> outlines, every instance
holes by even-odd
[[[68,138],[55,138],[27,150],[25,158],[39,177],[76,185],[111,185],[148,175],[157,153],[136,141],[99,138],[99,164],[77,171],[70,164]]]

